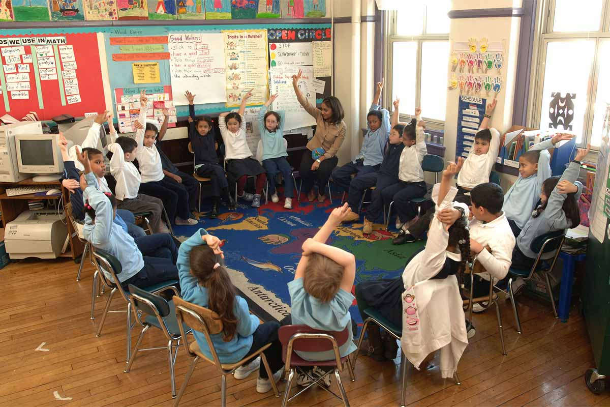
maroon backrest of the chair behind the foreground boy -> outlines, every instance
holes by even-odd
[[[348,325],[341,332],[315,330],[307,325],[284,325],[279,327],[278,337],[282,345],[288,345],[290,339],[296,334],[309,334],[307,336],[295,337],[292,348],[293,350],[304,352],[318,352],[332,350],[333,346],[331,340],[326,337],[316,337],[317,335],[331,336],[336,341],[337,347],[340,347],[350,337],[348,329],[351,330],[351,325]]]

